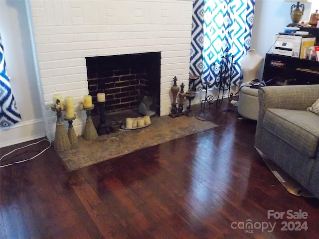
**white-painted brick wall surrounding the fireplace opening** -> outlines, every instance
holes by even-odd
[[[170,110],[176,75],[188,85],[191,0],[31,0],[38,66],[53,140],[52,95],[73,96],[83,134],[86,115],[79,108],[88,94],[85,57],[161,52],[160,115]]]

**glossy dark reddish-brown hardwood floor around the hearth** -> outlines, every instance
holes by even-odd
[[[319,200],[288,193],[253,147],[256,122],[225,108],[199,114],[218,127],[76,171],[64,169],[53,147],[1,168],[0,238],[319,238]],[[268,210],[283,219],[268,218]],[[308,217],[288,219],[288,210]]]

